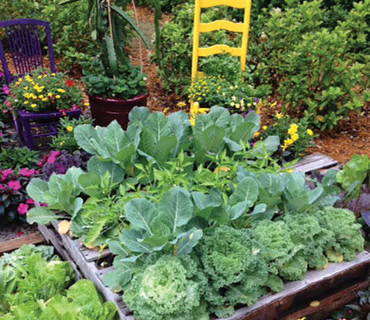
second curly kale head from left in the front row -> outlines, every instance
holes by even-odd
[[[205,299],[218,317],[229,317],[234,305],[254,304],[265,294],[267,265],[250,230],[220,226],[197,248],[209,278]]]

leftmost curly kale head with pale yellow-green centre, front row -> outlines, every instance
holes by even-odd
[[[206,278],[190,256],[161,256],[135,274],[123,300],[139,320],[208,320]]]

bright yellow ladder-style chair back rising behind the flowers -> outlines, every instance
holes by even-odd
[[[203,8],[211,8],[215,6],[229,6],[233,8],[245,9],[244,23],[236,23],[227,20],[213,21],[208,24],[200,22],[201,10]],[[249,22],[251,15],[252,0],[195,0],[194,14],[194,39],[193,39],[193,68],[191,71],[192,81],[198,76],[198,60],[199,57],[208,57],[219,53],[230,53],[240,57],[241,69],[245,71],[247,63],[247,48]],[[209,48],[200,48],[199,39],[200,33],[209,33],[215,30],[228,30],[235,33],[243,33],[242,46],[240,48],[232,48],[226,44],[216,44]]]

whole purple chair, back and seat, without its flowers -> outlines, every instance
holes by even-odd
[[[0,21],[0,30],[5,29],[5,34],[8,38],[8,47],[12,62],[15,66],[16,75],[12,75],[9,71],[8,62],[3,44],[0,39],[0,60],[3,64],[6,82],[8,85],[15,78],[22,77],[26,73],[42,67],[44,68],[44,57],[42,55],[42,41],[40,31],[42,28],[46,31],[46,42],[49,51],[50,69],[56,72],[53,42],[51,39],[51,30],[49,22],[35,19],[13,19],[8,21]],[[13,114],[15,128],[22,145],[33,149],[33,138],[37,136],[57,135],[58,130],[55,125],[58,125],[62,116],[70,116],[71,118],[79,118],[80,110],[71,112],[53,112],[45,114],[37,114],[35,112],[21,112],[17,116]],[[33,127],[49,127],[51,130],[47,133],[32,134]]]

